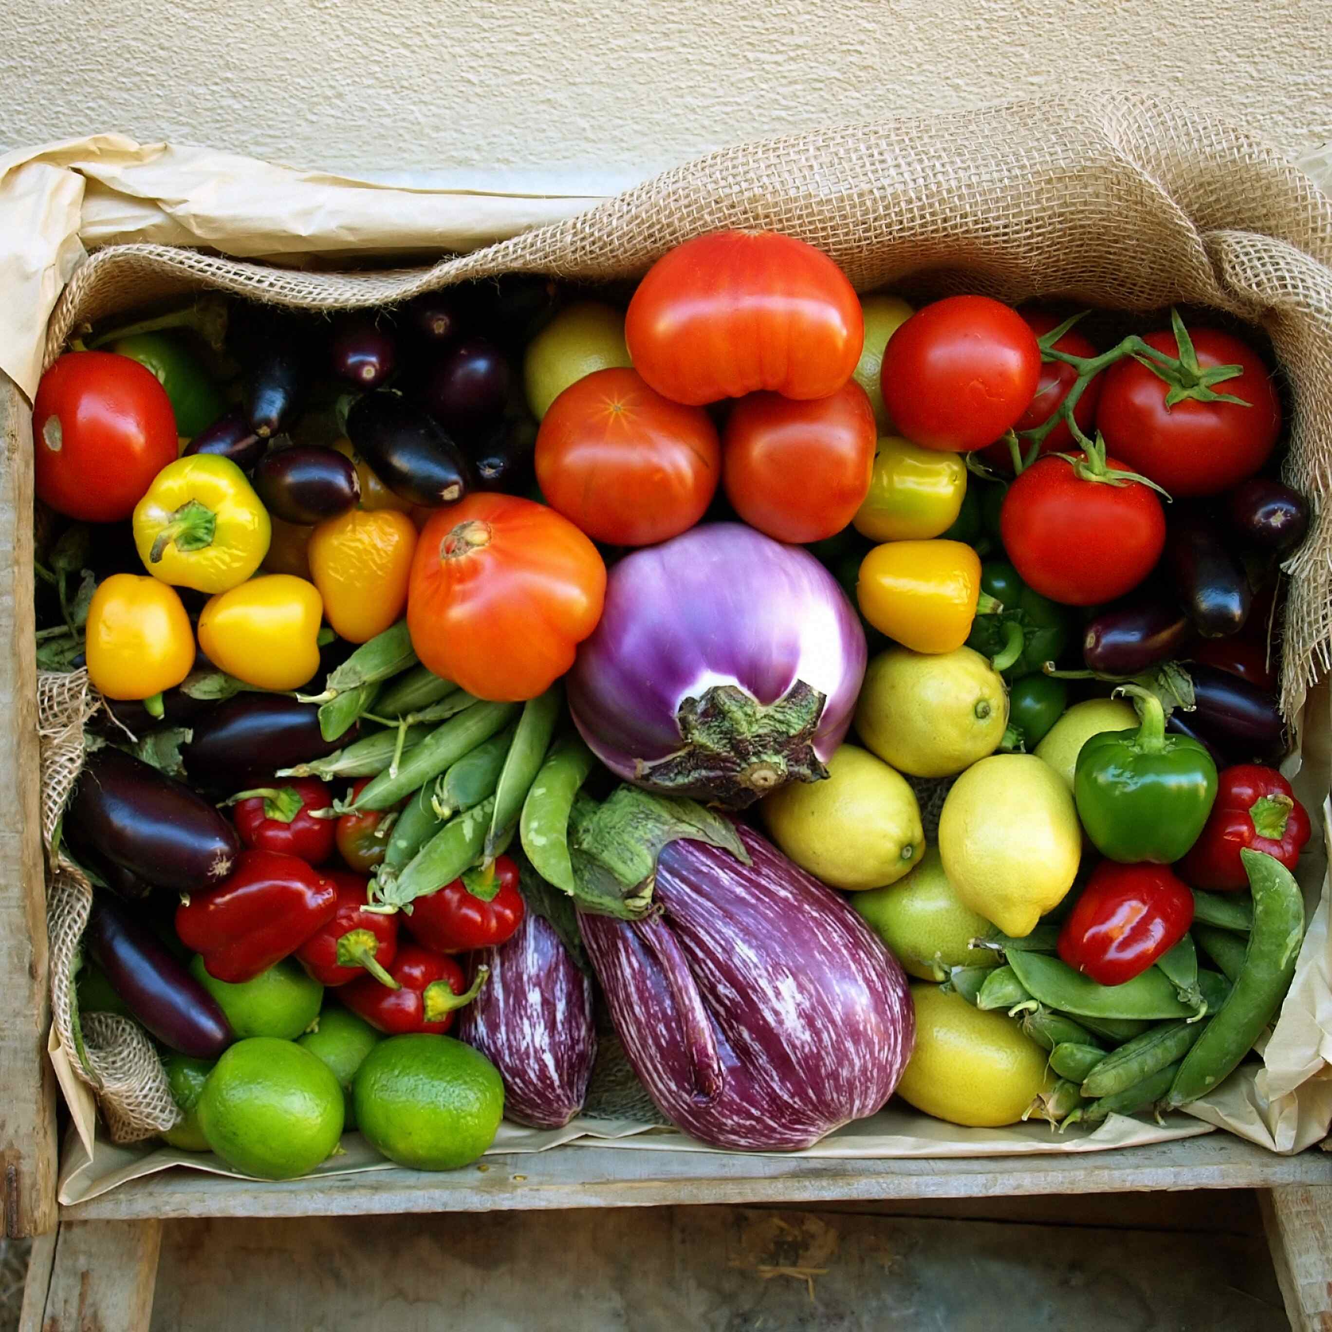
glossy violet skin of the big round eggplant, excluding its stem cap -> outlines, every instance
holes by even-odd
[[[859,617],[823,565],[718,522],[610,569],[601,623],[567,678],[569,709],[591,751],[634,781],[639,759],[681,747],[686,698],[738,685],[767,705],[805,681],[827,695],[814,739],[827,762],[851,725],[864,661]]]

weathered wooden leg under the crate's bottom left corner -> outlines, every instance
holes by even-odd
[[[148,1332],[161,1221],[65,1221],[33,1244],[19,1332]]]

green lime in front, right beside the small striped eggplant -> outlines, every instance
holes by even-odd
[[[493,1142],[503,1083],[478,1050],[418,1032],[381,1040],[352,1084],[356,1119],[377,1151],[414,1169],[457,1169]]]

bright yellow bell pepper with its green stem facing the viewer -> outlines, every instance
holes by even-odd
[[[230,458],[168,462],[135,506],[135,545],[163,582],[218,593],[245,582],[268,553],[268,510]]]

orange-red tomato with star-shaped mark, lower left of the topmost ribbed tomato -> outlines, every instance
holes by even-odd
[[[650,546],[693,527],[722,470],[717,426],[635,370],[595,370],[550,405],[537,433],[537,484],[593,541]]]

